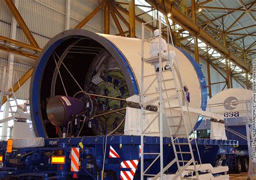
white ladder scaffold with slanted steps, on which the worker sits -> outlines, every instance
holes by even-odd
[[[150,23],[153,23],[154,21],[156,21],[158,23],[158,28],[159,28],[159,36],[158,37],[153,37],[153,38],[150,38],[150,39],[146,39],[145,38],[145,26],[147,24],[150,24]],[[154,39],[158,39],[158,49],[161,49],[161,39],[162,39],[162,35],[161,35],[161,18],[159,17],[158,19],[156,20],[151,20],[147,23],[143,23],[142,24],[142,73],[141,73],[141,85],[140,85],[140,106],[141,106],[141,114],[140,114],[140,143],[141,143],[141,175],[140,175],[140,179],[144,179],[144,176],[153,176],[152,180],[153,179],[157,179],[158,177],[160,177],[160,179],[163,179],[163,174],[164,172],[170,168],[174,163],[177,164],[177,167],[178,167],[178,171],[176,172],[176,174],[173,175],[173,178],[172,179],[176,179],[178,177],[182,178],[181,174],[182,172],[184,172],[185,170],[187,170],[188,166],[190,164],[193,163],[193,167],[194,167],[194,172],[196,172],[196,177],[198,178],[198,172],[197,172],[197,167],[196,167],[196,161],[194,160],[194,154],[193,154],[193,150],[192,150],[192,146],[191,146],[191,142],[194,141],[196,143],[196,148],[197,148],[197,153],[198,153],[198,157],[199,157],[199,161],[200,161],[200,164],[201,164],[201,159],[200,159],[200,155],[199,155],[199,150],[198,150],[198,146],[197,146],[197,141],[196,141],[196,137],[194,136],[194,133],[192,132],[192,135],[190,135],[190,132],[187,131],[187,126],[191,126],[192,129],[193,126],[192,126],[192,122],[191,122],[191,117],[190,117],[190,112],[188,110],[188,104],[187,102],[185,103],[185,106],[186,106],[186,110],[188,112],[188,118],[189,118],[189,122],[190,122],[190,125],[187,125],[186,123],[186,118],[185,115],[184,115],[184,112],[183,112],[183,103],[182,103],[182,96],[186,97],[185,96],[185,90],[184,90],[184,85],[183,83],[181,82],[181,89],[178,89],[178,83],[177,83],[177,80],[176,80],[176,75],[174,73],[174,68],[173,68],[173,65],[172,63],[170,62],[170,66],[171,66],[171,69],[172,71],[170,70],[166,70],[166,73],[170,73],[170,76],[172,76],[171,79],[167,79],[165,80],[164,79],[164,76],[163,76],[163,72],[162,72],[162,62],[164,61],[170,61],[169,60],[169,34],[171,34],[171,31],[169,29],[169,26],[167,26],[167,57],[164,57],[162,52],[159,51],[158,53],[158,56],[156,57],[148,57],[148,58],[145,58],[144,56],[144,43],[145,42],[149,42],[149,41],[152,41]],[[175,48],[174,48],[174,45],[173,45],[173,40],[172,40],[172,37],[170,36],[170,39],[171,39],[171,45],[173,46],[173,51],[175,52]],[[167,59],[166,59],[167,58]],[[177,61],[177,57],[175,57],[175,61],[176,61],[176,71],[177,71],[177,74],[179,74],[179,63]],[[154,98],[154,99],[151,99],[151,100],[148,100],[147,102],[144,102],[144,96],[145,96],[145,92],[151,87],[152,83],[147,85],[147,84],[144,84],[144,78],[147,78],[149,76],[144,76],[144,64],[145,63],[150,63],[150,64],[155,64],[155,63],[159,63],[159,72],[156,73],[156,78],[154,79],[154,81],[157,81],[158,82],[158,92],[157,93],[157,97]],[[155,66],[155,65],[154,65]],[[166,89],[166,82],[168,81],[173,81],[174,82],[174,86],[175,86],[175,91],[176,91],[176,94],[175,95],[172,95],[172,96],[168,96],[168,93],[167,91],[169,89]],[[163,83],[163,85],[162,85]],[[144,88],[146,88],[146,90],[144,91]],[[166,98],[164,99],[163,98],[163,93],[166,93]],[[180,109],[180,122],[179,122],[179,125],[175,125],[174,124],[174,118],[176,118],[176,116],[173,116],[172,115],[172,109],[173,107],[171,107],[171,104],[170,102],[173,100],[173,99],[178,99],[178,107]],[[185,100],[186,101],[186,100]],[[149,134],[152,134],[150,132],[145,132],[147,127],[144,128],[144,119],[146,119],[146,114],[147,112],[145,111],[144,107],[146,107],[147,105],[149,104],[152,104],[154,102],[159,102],[159,111],[157,112],[154,112],[156,113],[156,117],[153,118],[151,120],[151,123],[158,119],[159,120],[159,136],[160,136],[160,143],[159,143],[159,148],[160,148],[160,152],[153,152],[153,153],[145,153],[144,152],[144,138],[145,138],[145,135],[149,135]],[[168,104],[167,107],[165,104]],[[177,108],[177,107],[175,107]],[[167,117],[167,109],[170,109],[170,112],[171,112],[171,117]],[[163,112],[164,111],[164,112]],[[151,112],[152,113],[152,112]],[[172,142],[172,147],[173,147],[173,150],[174,150],[174,155],[175,155],[175,158],[169,163],[167,164],[165,167],[164,167],[164,161],[163,161],[163,116],[165,117],[166,121],[167,121],[167,125],[169,127],[169,133],[170,133],[170,137],[171,137],[171,142]],[[158,118],[157,118],[158,117]],[[150,123],[150,124],[151,124]],[[174,132],[173,132],[173,129],[174,128]],[[178,133],[179,132],[179,128],[184,128],[185,129],[185,134],[180,134]],[[193,131],[193,130],[192,130]],[[156,132],[154,132],[156,133]],[[186,139],[187,139],[187,143],[180,143],[179,142],[179,135],[184,135],[186,136]],[[187,145],[189,147],[189,152],[183,152],[181,150],[181,145]],[[176,146],[178,146],[178,151],[176,149]],[[179,156],[179,155],[180,156]],[[190,154],[191,155],[191,159],[186,161],[184,160],[184,157],[183,155],[184,154]],[[156,155],[155,159],[153,160],[153,162],[149,165],[149,167],[147,167],[145,170],[144,170],[144,155]],[[181,159],[180,159],[181,158]],[[153,175],[153,174],[147,174],[147,170],[150,169],[150,167],[152,167],[152,165],[154,163],[157,162],[157,160],[160,159],[160,172],[156,175]],[[180,164],[181,163],[181,164]]]

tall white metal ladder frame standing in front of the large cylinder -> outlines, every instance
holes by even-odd
[[[149,40],[157,39],[157,38],[156,37],[154,37],[154,38],[151,37],[150,39],[147,39],[145,41],[145,24],[147,24],[147,23],[142,23],[142,54],[141,54],[142,55],[142,67],[141,67],[142,68],[141,69],[141,73],[142,74],[141,74],[141,86],[140,86],[140,91],[141,91],[140,92],[140,106],[142,107],[141,111],[140,111],[141,112],[141,114],[140,114],[140,116],[141,116],[140,117],[141,118],[140,119],[140,134],[141,134],[141,137],[140,137],[141,138],[140,139],[141,140],[141,175],[140,175],[140,177],[141,178],[140,179],[144,179],[144,174],[146,174],[147,170],[149,170],[151,165],[154,162],[156,162],[156,160],[159,159],[159,157],[160,157],[160,172],[157,175],[154,175],[153,179],[156,179],[157,177],[160,177],[160,179],[163,179],[163,174],[164,174],[164,171],[166,170],[166,167],[171,167],[171,165],[173,163],[175,163],[175,162],[176,162],[176,164],[178,166],[178,172],[174,176],[174,179],[175,179],[175,177],[178,177],[178,176],[180,176],[180,178],[181,178],[181,172],[184,171],[186,169],[186,167],[188,165],[190,165],[191,163],[193,163],[194,170],[196,172],[196,176],[198,177],[197,168],[196,168],[196,161],[194,159],[193,149],[192,149],[192,145],[191,145],[191,141],[194,140],[195,144],[197,146],[197,141],[196,141],[196,137],[195,136],[194,136],[194,138],[192,138],[192,140],[190,138],[190,134],[189,134],[189,132],[187,130],[187,125],[186,125],[186,122],[185,122],[186,118],[185,118],[184,111],[183,111],[183,97],[186,97],[185,90],[184,90],[184,85],[183,85],[183,82],[180,80],[181,89],[178,89],[178,83],[176,81],[176,74],[174,73],[173,64],[170,61],[170,51],[169,51],[170,50],[169,34],[171,33],[170,32],[170,27],[167,26],[167,42],[168,42],[168,44],[167,44],[167,47],[166,47],[166,51],[167,51],[167,61],[170,61],[170,66],[171,66],[172,71],[167,71],[167,72],[171,72],[172,73],[173,78],[171,78],[170,80],[174,82],[175,88],[171,88],[171,90],[176,90],[176,94],[177,95],[176,96],[173,95],[173,96],[169,97],[168,93],[167,93],[167,90],[166,90],[167,89],[166,88],[167,80],[164,80],[164,76],[163,76],[163,73],[162,73],[162,66],[163,66],[162,54],[163,54],[163,52],[161,51],[161,40],[162,40],[162,35],[161,35],[161,18],[159,17],[158,19],[154,19],[154,20],[150,21],[150,23],[153,22],[153,21],[158,21],[158,23],[159,23],[158,56],[157,56],[157,59],[152,59],[152,60],[150,60],[150,62],[149,62],[149,60],[144,58],[144,43],[149,41]],[[171,37],[171,41],[172,41],[171,45],[173,46],[173,51],[176,54],[175,47],[173,45],[172,37]],[[177,64],[176,73],[179,76],[180,73],[179,73],[179,66],[178,66],[178,61],[177,61],[176,55],[175,55],[174,58],[176,59],[176,64]],[[151,63],[151,64],[159,63],[159,72],[156,73],[156,78],[154,79],[154,81],[157,80],[158,89],[159,90],[157,90],[156,94],[158,94],[158,95],[156,95],[156,98],[153,98],[151,100],[148,100],[147,102],[144,102],[144,95],[145,95],[145,92],[144,92],[144,63],[147,63],[147,62]],[[163,87],[162,87],[162,83],[164,83]],[[149,90],[149,88],[150,88],[150,86],[152,84],[153,84],[153,82],[151,82],[148,87],[147,86],[145,87],[146,91]],[[165,88],[165,89],[163,90],[163,88]],[[182,91],[182,92],[180,92],[180,91]],[[163,100],[163,95],[164,95],[163,92],[165,92],[165,94],[166,94],[166,99],[164,99],[164,100]],[[178,99],[178,104],[179,104],[180,114],[181,114],[180,116],[178,116],[178,117],[180,117],[180,122],[179,122],[177,130],[175,128],[176,126],[173,126],[174,125],[173,118],[176,117],[176,116],[173,116],[172,110],[170,111],[171,112],[171,117],[170,118],[172,118],[171,120],[172,120],[173,125],[170,124],[171,120],[169,120],[168,119],[169,117],[166,116],[167,113],[166,113],[165,104],[168,103],[169,107],[171,107],[170,101],[173,98],[177,98]],[[152,102],[156,102],[157,100],[159,100],[159,106],[158,106],[159,107],[159,112],[158,112],[159,115],[157,115],[157,116],[159,117],[159,126],[160,126],[159,127],[159,133],[160,133],[160,135],[159,135],[160,136],[160,143],[159,143],[160,153],[157,153],[159,155],[156,157],[156,159],[154,159],[153,162],[146,168],[146,170],[144,170],[144,154],[146,155],[146,153],[144,153],[144,135],[145,135],[144,132],[145,132],[145,130],[144,130],[143,119],[144,119],[144,115],[146,113],[144,113],[143,105],[151,104]],[[192,121],[191,121],[190,112],[188,110],[188,103],[187,103],[186,99],[185,99],[185,105],[187,107],[187,112],[188,112],[188,115],[189,115],[188,118],[190,119],[191,129],[192,129],[192,132],[194,133],[194,131],[193,131],[194,128],[192,126]],[[167,164],[165,168],[163,167],[163,116],[165,116],[165,119],[166,119],[167,124],[169,126],[169,133],[170,133],[170,137],[171,137],[171,141],[172,141],[172,147],[173,147],[174,155],[175,155],[175,159],[176,159],[175,161],[172,161],[171,163]],[[154,119],[151,121],[151,123],[153,121],[154,121]],[[174,133],[172,133],[172,126],[174,127]],[[179,133],[178,133],[178,131],[179,131],[179,127],[181,127],[181,126],[183,126],[184,129],[185,129],[185,134],[184,135],[186,135],[186,139],[187,139],[187,143],[186,144],[188,145],[188,147],[190,149],[190,152],[189,152],[190,155],[191,155],[191,160],[190,161],[185,161],[184,160],[184,157],[183,157],[184,153],[183,153],[183,151],[181,149],[181,145],[183,145],[184,143],[180,143],[179,142],[179,138],[178,138]],[[176,136],[176,138],[174,138],[174,136]],[[177,152],[176,145],[178,145],[179,152]],[[198,157],[199,157],[199,160],[200,160],[200,155],[199,155],[198,147],[197,147],[197,151],[198,151]],[[178,153],[181,156],[181,160],[179,160]],[[187,153],[188,152],[186,152],[186,154]],[[180,166],[180,163],[183,163],[183,166]],[[200,164],[201,164],[201,160],[200,160]],[[151,176],[153,176],[153,175],[151,175]]]

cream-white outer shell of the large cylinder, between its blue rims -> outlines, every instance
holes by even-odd
[[[136,78],[136,81],[138,83],[139,89],[141,89],[141,60],[142,60],[142,40],[141,39],[137,39],[137,38],[125,38],[125,37],[119,37],[116,35],[108,35],[108,34],[99,34],[102,35],[103,37],[105,37],[106,39],[110,40],[114,45],[116,45],[116,47],[118,47],[119,51],[123,53],[123,55],[125,56],[126,60],[128,61],[133,74]],[[169,50],[173,51],[173,47],[169,46]],[[187,59],[187,57],[185,56],[184,53],[182,53],[181,51],[179,51],[179,49],[175,48],[175,52],[176,52],[176,56],[177,56],[177,61],[179,63],[179,70],[180,70],[180,74],[177,75],[176,72],[176,77],[178,78],[178,89],[181,89],[180,86],[180,78],[183,80],[184,85],[187,86],[188,91],[190,92],[190,103],[189,106],[193,107],[195,109],[200,109],[201,108],[201,93],[200,93],[200,80],[197,76],[196,70],[193,67],[193,64],[190,62],[190,60]],[[149,42],[145,42],[144,44],[144,57],[150,57],[150,43]],[[173,62],[174,66],[177,67],[177,63],[176,61]],[[144,76],[147,75],[152,75],[155,74],[156,71],[154,69],[154,66],[152,66],[151,64],[144,64]],[[171,73],[170,73],[171,74]],[[167,80],[169,78],[171,78],[170,74],[164,74],[164,79]],[[150,78],[144,78],[144,86],[147,86],[149,84],[152,83],[152,81],[154,80],[154,77],[156,76],[151,76]],[[157,92],[157,88],[158,84],[157,81],[154,81],[153,84],[151,85],[151,88],[149,88],[147,90],[147,94],[152,94],[152,95],[146,95],[147,98],[153,99],[157,96],[156,92]],[[167,83],[167,87],[166,89],[169,88],[173,88],[174,87],[174,82],[169,82]],[[144,87],[146,89],[146,87]],[[176,90],[173,91],[168,91],[168,96],[172,96],[174,94],[176,94]],[[163,95],[163,98],[166,98],[166,95]],[[174,99],[173,102],[174,104],[178,104],[178,100]],[[126,112],[127,113],[127,112]],[[196,125],[197,121],[198,121],[198,114],[193,114],[191,113],[191,121],[192,121],[192,126],[194,127],[194,125]],[[187,124],[190,124],[190,120],[187,116],[187,114],[185,114],[186,116],[186,120],[187,120]],[[137,120],[138,117],[134,120]],[[177,121],[177,124],[179,123],[179,121]],[[188,132],[192,131],[191,126],[187,127]],[[180,129],[180,134],[184,134],[183,133],[184,129]]]

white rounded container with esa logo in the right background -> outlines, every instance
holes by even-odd
[[[207,102],[207,112],[223,116],[225,126],[242,126],[252,119],[252,90],[230,88],[218,92]],[[210,119],[205,119],[198,130],[210,129]]]

